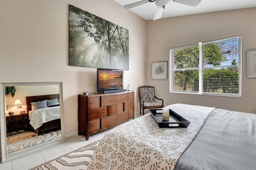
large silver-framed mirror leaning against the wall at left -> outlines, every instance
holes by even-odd
[[[0,83],[2,162],[65,141],[62,83]]]

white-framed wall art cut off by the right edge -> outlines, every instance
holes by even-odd
[[[256,77],[256,49],[247,50],[247,77]]]

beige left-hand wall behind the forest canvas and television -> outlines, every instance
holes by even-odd
[[[112,0],[0,0],[0,82],[63,82],[66,134],[78,131],[78,94],[94,92],[96,68],[68,65],[69,4],[129,30],[124,87],[146,82],[146,21]],[[135,93],[138,103],[138,93]],[[135,111],[139,111],[138,104]]]

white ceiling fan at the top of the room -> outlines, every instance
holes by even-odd
[[[172,2],[177,2],[180,4],[185,4],[189,6],[197,6],[202,0],[142,0],[139,2],[134,2],[132,4],[125,5],[124,8],[130,9],[136,6],[140,6],[146,4],[148,2],[155,2],[157,8],[156,13],[153,20],[157,20],[162,18],[162,13],[166,7],[168,7]]]

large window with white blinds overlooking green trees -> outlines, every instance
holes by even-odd
[[[240,97],[241,38],[170,49],[170,92]]]

